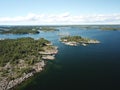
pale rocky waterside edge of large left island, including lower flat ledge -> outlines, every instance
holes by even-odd
[[[35,73],[41,72],[43,68],[45,67],[45,60],[54,60],[55,54],[57,54],[58,50],[55,47],[55,50],[53,52],[49,52],[49,54],[42,57],[42,60],[35,65],[32,66],[34,69],[33,71],[29,73],[24,73],[21,77],[9,80],[9,78],[4,78],[2,81],[0,81],[0,90],[10,90],[14,88],[15,86],[21,84],[26,79],[34,76]]]

